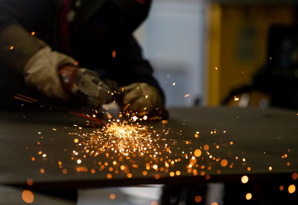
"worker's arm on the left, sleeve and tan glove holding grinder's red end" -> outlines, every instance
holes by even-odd
[[[58,69],[63,64],[74,64],[75,60],[52,51],[24,27],[34,25],[31,19],[44,20],[43,10],[51,10],[47,6],[45,1],[0,2],[0,61],[23,75],[25,83],[38,89],[41,94],[65,100],[68,95],[62,88]]]

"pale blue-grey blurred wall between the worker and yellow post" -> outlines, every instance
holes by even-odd
[[[203,104],[207,5],[200,0],[153,1],[135,32],[165,91],[167,106],[193,106],[197,100]]]

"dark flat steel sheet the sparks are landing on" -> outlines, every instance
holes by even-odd
[[[72,151],[77,150],[74,139],[78,138],[68,134],[77,129],[73,125],[77,124],[90,132],[94,130],[90,125],[85,125],[85,119],[48,109],[38,112],[25,109],[1,111],[0,183],[28,187],[26,181],[32,179],[33,185],[30,189],[77,189],[136,184],[240,182],[243,175],[247,175],[250,181],[291,181],[292,174],[298,171],[298,116],[295,111],[214,107],[171,108],[169,113],[169,123],[161,124],[158,121],[147,124],[151,124],[152,130],[157,131],[170,128],[169,133],[162,136],[167,142],[175,139],[177,143],[171,146],[172,154],[167,156],[169,159],[179,157],[181,161],[170,165],[169,172],[179,170],[180,176],[170,177],[169,172],[156,172],[153,169],[148,171],[145,168],[147,162],[143,157],[139,157],[139,167],[135,169],[133,177],[128,178],[123,171],[119,174],[110,172],[108,167],[113,160],[106,158],[104,154],[96,157],[87,155],[86,158],[82,158],[81,153],[78,155],[80,157],[73,154]],[[214,130],[216,133],[211,134]],[[194,137],[196,131],[200,132],[197,138]],[[43,138],[40,138],[41,136]],[[185,141],[191,143],[186,144]],[[230,145],[231,141],[233,145]],[[210,155],[227,159],[228,165],[222,167],[220,161],[210,159],[203,150],[205,144],[210,147]],[[216,145],[219,145],[219,149]],[[187,173],[186,168],[192,156],[189,152],[200,147],[202,155],[196,158],[197,164],[204,165],[205,168],[196,168],[198,175],[193,176],[192,173]],[[38,151],[43,151],[47,156],[38,155]],[[185,159],[182,151],[188,154],[188,159]],[[176,153],[177,156],[174,156]],[[287,158],[282,158],[285,154]],[[110,156],[112,155],[113,153],[110,153]],[[71,160],[72,156],[74,160]],[[31,157],[35,157],[35,161],[32,161]],[[79,165],[76,163],[78,158],[82,159]],[[243,158],[246,159],[245,162],[242,161]],[[58,167],[58,161],[62,162],[62,168]],[[109,166],[100,172],[98,161],[107,161]],[[289,166],[287,162],[290,162]],[[231,163],[234,163],[233,168],[229,168]],[[83,165],[88,168],[88,172],[77,172],[76,168]],[[208,166],[211,166],[211,170],[207,170]],[[269,166],[272,167],[271,171]],[[250,167],[251,171],[247,171],[247,167]],[[40,172],[41,168],[45,169],[44,173]],[[62,173],[63,168],[67,168],[67,174]],[[96,172],[92,174],[91,169]],[[217,173],[219,169],[220,174]],[[142,175],[144,170],[148,172],[147,176]],[[201,171],[210,175],[210,179],[200,176]],[[112,173],[111,179],[106,177],[108,173]],[[160,174],[159,179],[154,178],[156,174]]]

